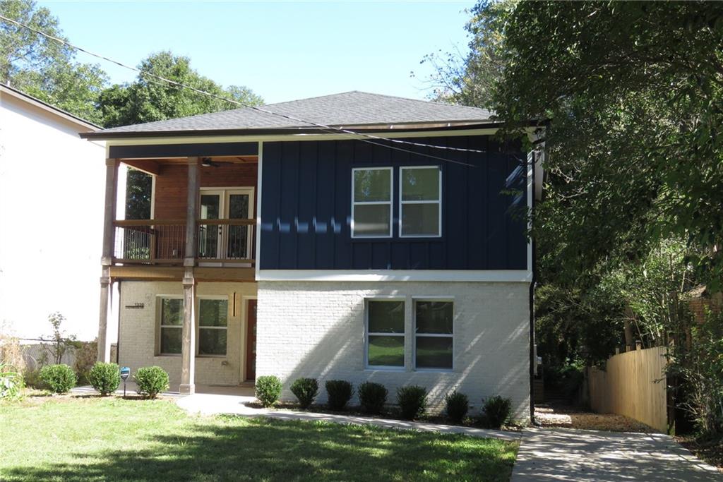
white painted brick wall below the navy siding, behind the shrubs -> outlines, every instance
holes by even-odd
[[[385,384],[390,401],[404,384],[429,390],[440,408],[460,390],[479,409],[483,397],[513,400],[515,418],[529,417],[529,285],[527,283],[328,283],[264,281],[258,285],[257,376],[280,376],[283,398],[301,376],[346,379],[357,386]],[[406,368],[364,367],[364,299],[406,297]],[[455,301],[454,370],[413,371],[412,296],[450,296]],[[354,400],[357,403],[357,400]]]

